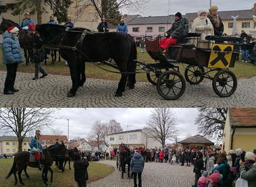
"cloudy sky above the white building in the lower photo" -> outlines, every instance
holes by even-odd
[[[197,108],[172,108],[177,116],[178,128],[180,128],[179,141],[186,135],[197,135],[195,118],[199,114]],[[69,119],[69,138],[85,138],[91,131],[93,123],[97,120],[106,122],[116,120],[123,130],[134,130],[146,126],[149,115],[153,108],[61,108],[60,119],[55,120],[53,128],[59,128],[64,135],[68,135]],[[42,132],[45,134],[44,132]]]

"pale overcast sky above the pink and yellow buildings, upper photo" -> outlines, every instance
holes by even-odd
[[[211,0],[211,5],[217,5],[219,11],[226,10],[240,10],[240,9],[252,9],[254,0]],[[210,6],[209,0],[150,0],[147,3],[147,8],[143,13],[129,13],[126,10],[122,11],[122,14],[128,13],[129,15],[140,14],[145,16],[156,15],[168,15],[175,14],[180,11],[182,14],[197,12],[202,7],[208,9]],[[236,15],[233,15],[236,16]]]

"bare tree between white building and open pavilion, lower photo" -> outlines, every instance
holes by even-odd
[[[151,111],[147,127],[149,127],[149,137],[161,143],[165,147],[166,139],[177,137],[178,122],[175,113],[170,108],[155,108]]]

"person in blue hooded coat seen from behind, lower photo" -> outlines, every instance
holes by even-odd
[[[138,187],[141,187],[142,185],[141,174],[143,173],[144,165],[145,165],[145,162],[144,162],[143,156],[140,155],[140,150],[137,149],[130,161],[130,167],[132,168],[132,174],[133,174],[134,187],[137,187],[137,174],[138,174]]]

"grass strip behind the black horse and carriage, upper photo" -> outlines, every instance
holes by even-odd
[[[138,60],[143,61],[146,63],[155,63],[151,57],[149,57],[149,54],[141,53],[140,48],[137,48],[138,51]],[[2,50],[0,50],[0,55],[2,56]],[[49,56],[49,55],[48,55]],[[2,58],[0,59],[2,61]],[[51,65],[51,60],[47,60],[48,63],[46,66],[43,66],[44,69],[47,71],[47,73],[53,74],[53,75],[70,75],[70,69],[65,66],[65,61],[61,59],[61,62],[55,62],[55,66]],[[43,65],[43,63],[41,63]],[[180,68],[180,72],[182,75],[184,75],[184,69],[186,68],[186,64],[178,64],[177,65]],[[101,68],[105,69],[101,69]],[[95,65],[95,63],[86,63],[86,77],[92,78],[92,79],[107,79],[107,80],[120,80],[120,73],[112,73],[109,71],[115,71],[119,72],[116,69],[113,69],[112,67],[109,67],[108,65]],[[251,78],[256,76],[256,67],[255,65],[252,65],[251,63],[242,63],[241,61],[236,61],[234,68],[230,68],[232,72],[236,75],[236,77],[239,78]],[[6,71],[5,65],[3,63],[0,63],[0,71]],[[24,72],[24,73],[34,73],[34,65],[31,63],[26,66],[26,63],[22,63],[18,67],[18,72]],[[214,72],[215,73],[215,72]],[[214,74],[213,74],[214,75]],[[146,77],[146,73],[143,71],[143,73],[138,73],[136,75],[137,81],[148,81]]]

